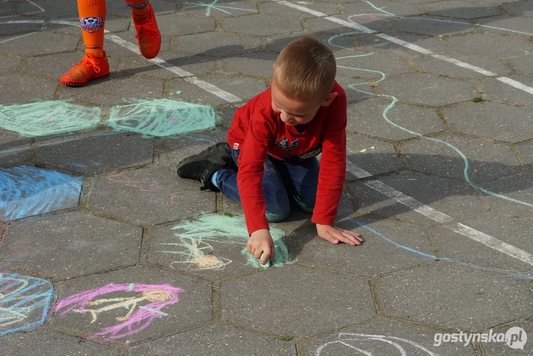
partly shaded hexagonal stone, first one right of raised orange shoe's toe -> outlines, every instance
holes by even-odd
[[[213,57],[227,57],[259,52],[262,51],[262,47],[261,40],[257,37],[213,31],[177,37],[173,50]]]

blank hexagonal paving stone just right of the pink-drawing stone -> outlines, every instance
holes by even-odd
[[[301,266],[223,282],[220,309],[222,321],[298,338],[376,317],[368,282]]]

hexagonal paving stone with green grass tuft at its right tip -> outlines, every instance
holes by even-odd
[[[431,106],[460,103],[479,95],[470,82],[418,73],[386,79],[379,88],[398,100]]]

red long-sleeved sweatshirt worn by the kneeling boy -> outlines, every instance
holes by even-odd
[[[321,106],[302,132],[285,125],[272,110],[271,89],[239,107],[228,131],[228,144],[241,150],[237,185],[248,234],[268,229],[263,195],[266,154],[275,159],[320,158],[317,200],[311,221],[333,225],[346,177],[346,93],[335,82],[338,95]]]

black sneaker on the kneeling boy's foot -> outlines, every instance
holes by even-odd
[[[229,145],[220,142],[185,158],[177,165],[176,171],[181,178],[198,180],[204,185],[200,188],[202,191],[210,189],[213,192],[220,192],[211,182],[211,177],[216,171],[224,168],[235,169],[236,165],[233,162]]]

